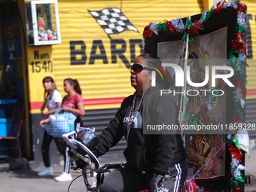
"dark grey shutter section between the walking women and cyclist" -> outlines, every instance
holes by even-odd
[[[95,127],[95,133],[99,135],[108,125],[109,120],[113,119],[116,112],[117,108],[86,111],[82,119],[84,127]],[[124,148],[126,148],[126,140],[123,137],[117,145],[108,151],[108,154],[122,154]]]

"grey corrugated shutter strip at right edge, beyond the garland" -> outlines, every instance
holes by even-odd
[[[245,123],[247,123],[248,126],[256,123],[256,99],[246,99]],[[253,130],[252,126],[251,130],[248,130],[248,135],[250,138],[256,138],[256,130]]]

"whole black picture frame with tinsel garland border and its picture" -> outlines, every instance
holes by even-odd
[[[215,68],[216,73],[212,76],[230,75],[226,79],[229,82],[224,78],[209,77],[210,81],[215,81],[215,86],[208,87],[207,90],[211,93],[214,90],[215,94],[203,92],[204,98],[198,99],[201,101],[200,105],[195,108],[196,99],[194,99],[190,111],[187,110],[187,100],[189,100],[187,96],[181,98],[182,96],[173,95],[175,91],[177,93],[175,90],[177,86],[170,85],[169,93],[172,94],[181,111],[181,125],[197,127],[196,131],[192,132],[182,130],[188,160],[193,156],[191,148],[199,148],[198,146],[203,146],[204,149],[197,151],[195,153],[197,157],[194,155],[194,161],[190,163],[197,165],[200,160],[196,162],[196,159],[200,158],[198,157],[200,153],[209,155],[209,157],[204,157],[200,167],[190,166],[194,170],[190,172],[190,177],[187,178],[184,187],[193,186],[191,183],[194,183],[200,191],[243,191],[243,170],[245,169],[243,154],[247,151],[239,145],[239,135],[246,134],[242,126],[245,120],[245,85],[247,82],[245,75],[246,44],[243,41],[246,10],[246,5],[239,1],[219,2],[215,8],[212,7],[210,11],[204,11],[203,14],[149,23],[145,26],[143,32],[145,53],[159,56],[163,63],[172,62],[181,67],[181,63],[187,64],[190,53],[196,53],[199,56],[198,62],[203,63],[203,66],[200,66],[202,69],[205,66],[209,66],[209,69],[215,65],[224,66],[224,70]],[[171,75],[176,75],[175,70],[169,68],[168,65],[166,69]],[[187,73],[184,72],[184,74]],[[210,72],[209,76],[211,74]],[[191,77],[193,75],[190,75]],[[178,80],[175,76],[172,79]],[[208,82],[208,85],[211,83]],[[186,86],[182,88],[184,87]],[[181,93],[186,95],[186,88],[182,91],[185,91]],[[217,95],[221,96],[221,99]],[[215,108],[215,111],[212,108]],[[215,126],[217,130],[210,128],[211,131],[198,132],[198,127],[203,125]],[[194,142],[196,137],[200,142]],[[209,145],[208,148],[206,144]],[[208,175],[202,173],[203,169],[206,169]],[[212,173],[209,174],[209,172]]]

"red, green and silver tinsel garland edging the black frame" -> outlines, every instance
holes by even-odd
[[[187,23],[184,25],[181,19],[176,19],[172,21],[165,20],[162,23],[149,23],[148,26],[145,26],[143,32],[143,43],[145,45],[145,38],[151,38],[153,33],[158,35],[159,32],[177,32],[184,34],[182,39],[188,38],[188,41],[194,41],[194,38],[197,36],[198,30],[203,30],[203,23],[209,20],[213,14],[221,14],[222,11],[226,8],[233,8],[236,10],[236,38],[232,40],[232,50],[228,53],[227,61],[224,63],[224,66],[230,66],[233,68],[236,82],[234,83],[233,99],[234,99],[234,114],[233,114],[233,124],[242,123],[244,119],[245,111],[245,95],[246,89],[245,85],[247,84],[245,72],[242,70],[246,64],[246,44],[242,40],[243,32],[245,32],[246,22],[245,17],[247,14],[246,5],[242,4],[239,0],[233,0],[232,2],[218,2],[216,8],[212,7],[210,11],[204,11],[200,20],[195,20],[194,23],[191,20],[187,20]],[[224,73],[224,72],[223,72]],[[224,81],[220,80],[218,82],[218,89],[225,90]],[[212,98],[209,94],[207,96],[204,105],[202,105],[200,111],[197,114],[190,113],[184,117],[184,121],[188,124],[202,124],[207,122],[209,117],[207,116],[208,109],[211,109],[211,105],[215,102],[215,98]],[[231,127],[233,130],[233,127]],[[230,169],[232,173],[232,178],[230,178],[231,191],[238,192],[239,182],[244,182],[241,170],[244,170],[244,166],[240,163],[242,153],[237,146],[237,141],[235,138],[236,131],[227,135],[227,148],[231,156]],[[207,189],[200,191],[209,191]]]

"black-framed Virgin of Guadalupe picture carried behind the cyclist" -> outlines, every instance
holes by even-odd
[[[150,23],[143,33],[145,53],[160,57],[172,75],[168,93],[180,112],[188,178],[204,190],[232,188],[228,125],[234,122],[238,109],[244,113],[234,96],[241,73],[230,65],[230,54],[233,59],[245,57],[242,49],[233,52],[235,41],[242,42],[242,33],[237,31],[238,13],[237,6],[224,5],[211,15],[204,12]],[[245,96],[239,98],[243,99]]]

